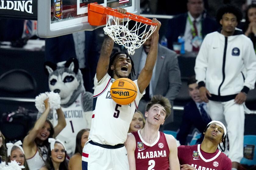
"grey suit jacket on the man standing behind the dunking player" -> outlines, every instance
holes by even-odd
[[[143,46],[135,50],[132,57],[134,63],[135,77],[133,80],[138,78],[138,70],[141,60]],[[168,98],[173,104],[173,100],[180,92],[181,79],[180,79],[180,68],[178,65],[177,55],[174,51],[158,44],[158,54],[156,61],[155,70],[155,88],[153,89],[153,95],[161,94]],[[141,102],[142,103],[142,102]],[[165,124],[173,121],[173,113],[170,118],[165,120]]]

